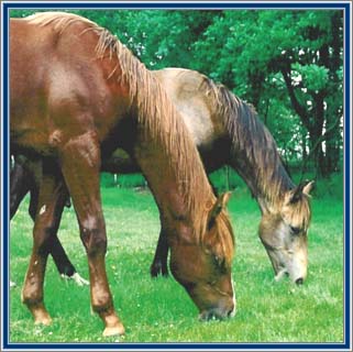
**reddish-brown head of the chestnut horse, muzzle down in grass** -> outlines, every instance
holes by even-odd
[[[221,195],[208,208],[201,241],[190,240],[187,230],[183,241],[170,243],[170,271],[199,308],[202,320],[235,314],[231,275],[234,235],[224,211],[229,197],[230,193]]]

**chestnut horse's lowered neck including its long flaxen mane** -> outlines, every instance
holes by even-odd
[[[128,91],[134,125],[128,140],[134,141],[134,157],[163,216],[186,219],[198,230],[196,221],[202,222],[203,209],[214,196],[181,117],[157,79],[109,32],[100,33],[96,52],[97,57],[108,54],[111,59],[109,77],[117,78],[117,101]]]

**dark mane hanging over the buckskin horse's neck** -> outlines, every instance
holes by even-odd
[[[233,166],[249,184],[254,196],[263,196],[273,201],[294,188],[276,142],[253,106],[207,77],[205,85],[208,95],[213,96],[217,113],[223,117],[224,129],[231,139]]]

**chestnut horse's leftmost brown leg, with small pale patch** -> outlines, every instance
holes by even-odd
[[[32,312],[35,323],[49,324],[51,317],[43,301],[43,282],[51,241],[57,232],[65,198],[62,193],[62,176],[53,172],[55,165],[45,162],[43,169],[45,172],[33,229],[32,256],[22,290],[22,301]]]

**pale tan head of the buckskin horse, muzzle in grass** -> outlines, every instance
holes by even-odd
[[[287,274],[300,285],[307,277],[307,232],[311,215],[309,193],[312,185],[313,182],[304,182],[286,191],[277,210],[263,213],[258,232],[276,280]]]

